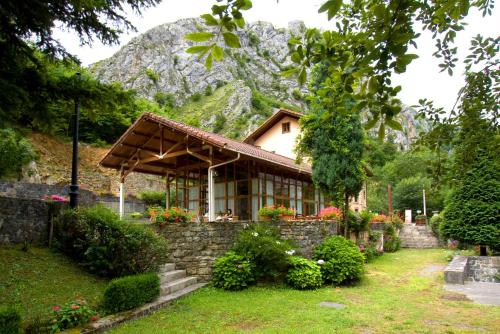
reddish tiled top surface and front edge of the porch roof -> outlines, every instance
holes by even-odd
[[[203,131],[201,129],[195,128],[190,125],[186,125],[181,122],[169,120],[153,113],[143,114],[137,121],[134,122],[134,124],[132,124],[132,126],[130,126],[130,128],[114,144],[114,146],[109,151],[108,155],[106,155],[106,157],[104,157],[104,159],[101,161],[102,165],[111,167],[109,164],[104,163],[106,159],[112,155],[113,150],[119,147],[120,143],[126,141],[127,136],[133,135],[133,129],[144,121],[152,121],[154,123],[164,125],[176,131],[183,132],[189,135],[190,137],[205,141],[206,143],[211,144],[213,146],[224,148],[226,150],[240,153],[242,155],[246,155],[248,157],[262,160],[271,164],[283,166],[288,169],[292,169],[306,174],[311,174],[312,172],[311,166],[308,164],[299,165],[296,164],[293,159],[287,158],[285,156],[263,150],[261,148],[258,148],[250,144],[232,140],[215,133]]]

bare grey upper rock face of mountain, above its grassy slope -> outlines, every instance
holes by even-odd
[[[266,22],[248,24],[238,32],[242,47],[230,50],[222,62],[214,62],[211,71],[185,51],[193,43],[184,35],[200,29],[208,29],[201,19],[160,25],[134,38],[113,57],[94,64],[92,71],[104,82],[122,82],[152,99],[157,93],[172,93],[182,103],[208,85],[215,88],[220,82],[244,80],[261,93],[298,102],[291,97],[297,82],[277,73],[291,64],[287,41],[304,31],[303,23],[292,22],[289,29],[275,29]]]

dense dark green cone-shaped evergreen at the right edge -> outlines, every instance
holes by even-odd
[[[483,152],[453,190],[441,233],[469,245],[500,248],[500,164]]]

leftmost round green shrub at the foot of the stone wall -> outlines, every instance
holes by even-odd
[[[215,260],[212,283],[224,290],[243,290],[254,282],[254,269],[252,262],[230,251]]]

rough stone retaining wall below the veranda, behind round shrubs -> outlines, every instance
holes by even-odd
[[[337,234],[335,221],[294,221],[275,223],[285,239],[294,240],[300,252],[310,257],[314,246]],[[208,281],[215,259],[228,251],[238,232],[248,222],[211,222],[166,225],[160,233],[168,240],[170,260],[177,269]]]

